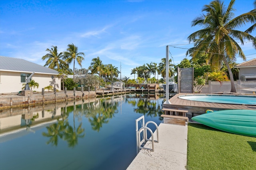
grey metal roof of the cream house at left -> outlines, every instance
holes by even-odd
[[[11,72],[35,72],[42,74],[58,74],[58,71],[39,64],[17,59],[12,57],[0,56],[0,70],[8,70]]]

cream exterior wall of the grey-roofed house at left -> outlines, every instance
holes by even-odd
[[[0,93],[18,93],[21,91],[24,83],[20,82],[20,73],[23,72],[0,71]],[[51,76],[54,76],[54,78],[52,79]],[[35,73],[32,80],[39,84],[38,88],[32,88],[33,91],[41,92],[42,88],[50,85],[57,90],[61,88],[61,80],[57,75]]]

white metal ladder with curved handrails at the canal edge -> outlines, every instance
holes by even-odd
[[[138,122],[142,119],[142,124],[141,124],[141,128],[138,129]],[[137,145],[137,154],[139,153],[140,149],[145,149],[144,147],[142,147],[141,145],[143,143],[146,143],[147,141],[152,141],[152,152],[154,152],[154,142],[159,143],[159,135],[158,135],[158,126],[154,121],[148,121],[145,124],[145,119],[144,119],[144,115],[141,116],[140,118],[136,119],[136,145]],[[141,122],[141,121],[140,121]],[[154,141],[154,135],[152,130],[147,127],[147,125],[149,123],[153,123],[156,126],[156,135],[157,135],[157,141]],[[147,130],[151,133],[151,139],[148,139],[147,137]],[[143,132],[143,133],[142,133]],[[142,139],[140,137],[140,134],[142,133]]]

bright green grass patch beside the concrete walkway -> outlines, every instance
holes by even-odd
[[[188,124],[188,170],[255,170],[256,138]]]

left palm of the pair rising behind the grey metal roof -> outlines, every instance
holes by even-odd
[[[47,59],[44,66],[48,66],[48,68],[58,71],[67,65],[66,62],[63,60],[63,53],[58,53],[57,46],[52,46],[51,49],[46,49],[46,51],[48,51],[49,53],[42,57],[43,61]]]

